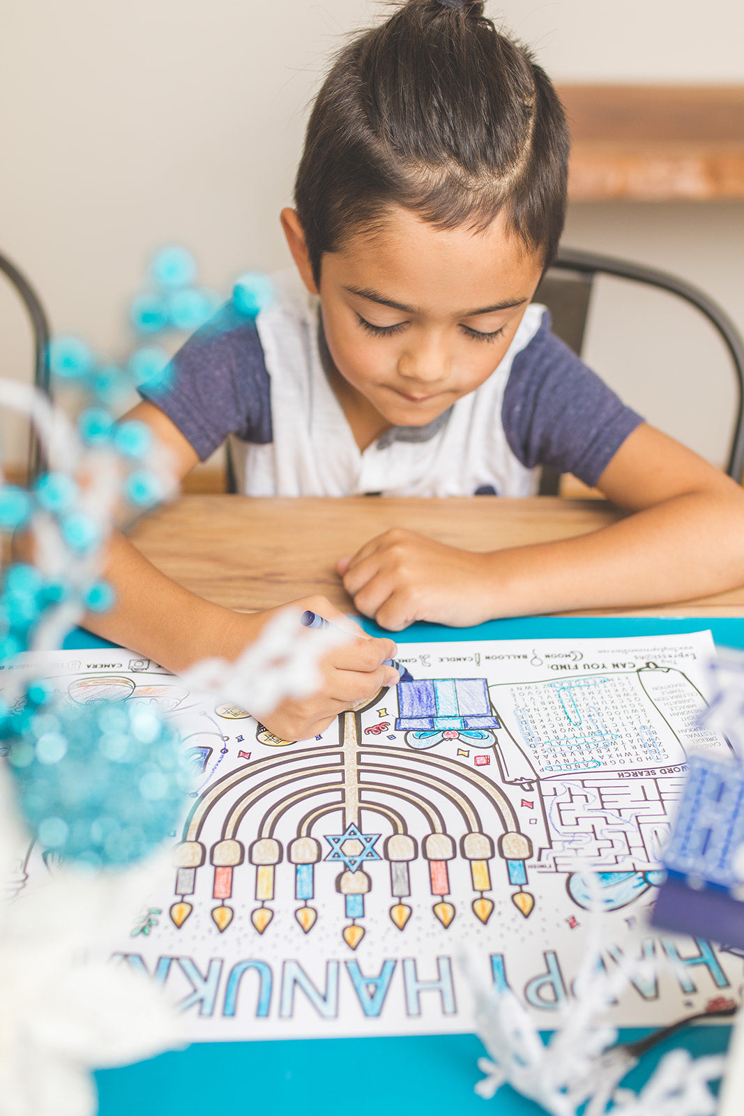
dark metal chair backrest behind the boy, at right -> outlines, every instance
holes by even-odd
[[[598,275],[615,276],[669,291],[696,307],[718,331],[732,359],[737,393],[726,472],[741,483],[744,466],[744,341],[734,323],[702,290],[666,271],[657,271],[612,256],[561,248],[554,264],[540,282],[534,300],[548,307],[553,319],[553,331],[579,356],[583,346],[592,283]],[[559,481],[558,473],[543,469],[540,494],[554,496]]]

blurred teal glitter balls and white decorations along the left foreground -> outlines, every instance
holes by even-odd
[[[191,330],[210,317],[219,297],[194,278],[185,250],[154,258],[154,291],[132,311],[141,335]],[[240,312],[252,317],[270,298],[267,280],[254,278],[240,287]],[[66,700],[23,663],[25,652],[61,647],[86,613],[115,605],[105,578],[112,531],[176,491],[149,427],[114,414],[145,382],[167,389],[167,354],[141,345],[115,364],[60,337],[49,358],[52,386],[75,398],[76,422],[42,392],[0,381],[0,406],[30,420],[45,462],[27,489],[7,483],[0,468],[3,552],[16,536],[23,554],[0,586],[2,1116],[91,1116],[90,1069],[149,1057],[181,1033],[163,991],[108,959],[143,908],[137,932],[149,927],[147,898],[168,867],[158,849],[191,787],[189,749],[157,702]],[[190,685],[203,679],[209,691],[219,677],[232,700],[269,712],[287,694],[317,689],[328,641],[306,636],[299,615],[280,614],[236,663],[196,664]],[[33,847],[47,872],[29,881],[29,854],[19,850]]]

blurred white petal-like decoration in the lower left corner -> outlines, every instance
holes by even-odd
[[[50,864],[25,889],[15,850],[23,825],[0,767],[0,1112],[2,1116],[91,1116],[90,1070],[125,1065],[181,1042],[162,991],[108,961],[162,868],[80,872]]]

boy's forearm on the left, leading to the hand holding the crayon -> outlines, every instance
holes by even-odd
[[[197,597],[162,574],[125,536],[112,537],[106,578],[116,594],[107,613],[83,622],[170,671],[201,658],[234,658],[251,637],[251,617]],[[258,634],[259,624],[255,628]]]

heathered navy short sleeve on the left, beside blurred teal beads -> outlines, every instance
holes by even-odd
[[[143,384],[139,394],[160,407],[205,461],[228,437],[271,442],[269,373],[255,324],[226,304],[171,362],[167,389]]]

